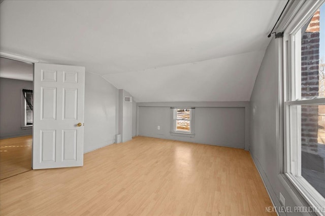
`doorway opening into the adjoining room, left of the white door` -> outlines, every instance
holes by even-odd
[[[0,179],[31,170],[34,66],[0,57]]]

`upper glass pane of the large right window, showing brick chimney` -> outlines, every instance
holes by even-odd
[[[325,97],[324,8],[325,4],[301,28],[301,99]]]

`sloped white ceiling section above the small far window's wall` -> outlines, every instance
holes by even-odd
[[[263,56],[255,51],[104,78],[137,102],[249,101]]]

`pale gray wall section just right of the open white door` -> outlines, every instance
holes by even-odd
[[[85,74],[84,152],[115,141],[118,90],[101,76]]]

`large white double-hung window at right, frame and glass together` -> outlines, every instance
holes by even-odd
[[[284,172],[311,206],[325,206],[325,4],[284,35]],[[308,10],[307,10],[308,9]],[[321,214],[321,213],[320,213]]]

